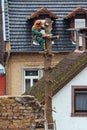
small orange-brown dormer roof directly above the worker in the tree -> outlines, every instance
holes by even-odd
[[[37,16],[39,16],[40,14],[48,14],[50,17],[57,19],[58,16],[54,13],[52,13],[51,11],[49,11],[47,8],[40,8],[39,10],[37,10],[36,12],[34,12],[33,14],[31,14],[30,16],[28,16],[29,19],[34,19]]]

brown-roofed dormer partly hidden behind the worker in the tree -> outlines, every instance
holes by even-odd
[[[34,22],[36,20],[40,20],[42,23],[42,26],[44,26],[45,18],[50,18],[50,19],[54,20],[54,19],[57,19],[58,16],[55,15],[53,12],[49,11],[47,8],[40,8],[39,10],[37,10],[36,12],[34,12],[30,16],[28,16],[28,19],[32,20],[32,25],[34,24]],[[32,25],[31,25],[31,27],[32,27]],[[42,31],[42,33],[45,32],[45,30],[41,30],[41,31]],[[32,41],[33,41],[34,45],[39,45],[39,43],[36,42],[36,40],[34,40],[34,38],[32,38]]]

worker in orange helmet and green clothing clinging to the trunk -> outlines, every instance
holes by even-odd
[[[42,29],[44,30],[44,27],[41,26],[41,21],[36,20],[34,25],[32,26],[32,34],[35,40],[41,45],[41,48],[45,50],[45,37],[47,36],[47,34],[41,33]]]

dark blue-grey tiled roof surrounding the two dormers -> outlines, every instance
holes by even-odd
[[[32,44],[32,21],[27,17],[42,7],[58,15],[53,34],[58,34],[60,38],[55,40],[53,51],[72,51],[75,45],[71,42],[70,32],[66,30],[69,23],[64,16],[79,6],[87,8],[87,0],[5,0],[6,40],[11,43],[11,51],[41,51],[40,46]]]

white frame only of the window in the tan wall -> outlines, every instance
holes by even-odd
[[[25,71],[27,71],[27,70],[29,70],[29,71],[38,71],[38,76],[26,76],[25,75]],[[24,67],[23,68],[23,92],[25,92],[26,91],[26,84],[25,84],[25,80],[26,79],[30,79],[30,87],[32,87],[33,86],[33,79],[40,79],[40,78],[42,78],[43,77],[43,75],[44,75],[44,70],[43,70],[43,67]]]

